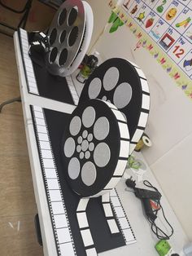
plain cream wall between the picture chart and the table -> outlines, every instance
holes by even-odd
[[[108,19],[102,18],[107,15],[107,0],[87,2],[93,8],[95,33],[99,34]],[[192,241],[192,101],[149,52],[143,48],[134,51],[138,39],[126,26],[111,34],[109,29],[98,41],[96,49],[103,60],[122,57],[135,62],[146,73],[151,90],[151,113],[146,133],[151,137],[153,147],[145,149],[143,154]]]

